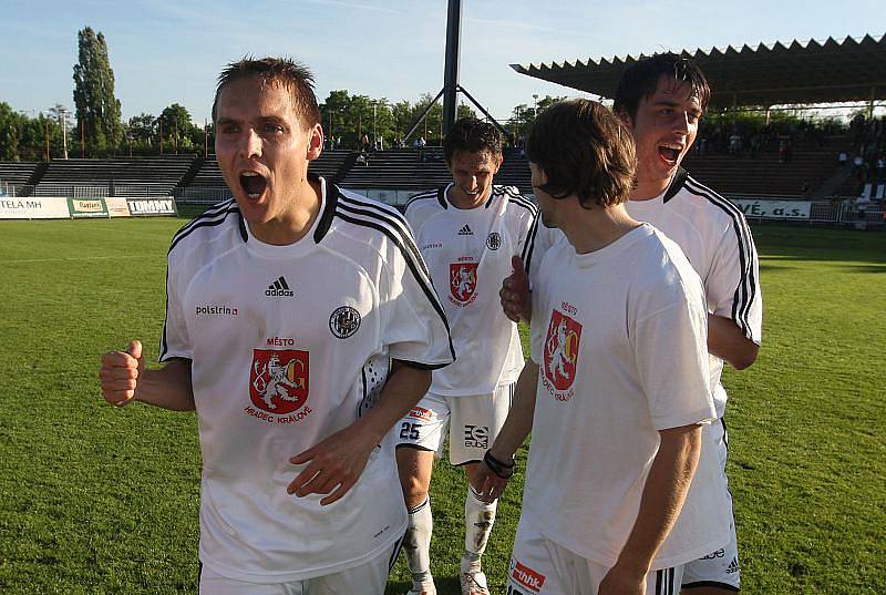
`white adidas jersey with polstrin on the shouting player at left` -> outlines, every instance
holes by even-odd
[[[388,440],[328,506],[317,494],[286,493],[305,468],[288,459],[372,408],[390,358],[425,368],[454,359],[402,216],[320,182],[320,214],[295,244],[259,242],[229,201],[183,227],[169,248],[161,360],[192,360],[200,560],[239,581],[331,574],[403,535]]]

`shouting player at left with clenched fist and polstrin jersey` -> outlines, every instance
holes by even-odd
[[[291,60],[223,71],[234,199],[173,238],[165,366],[102,358],[107,402],[197,412],[204,594],[381,595],[406,529],[385,437],[454,357],[405,220],[308,172],[312,84]]]

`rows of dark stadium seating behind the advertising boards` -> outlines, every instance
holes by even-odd
[[[835,151],[843,137],[830,139],[826,146],[797,145],[789,162],[777,155],[756,157],[734,155],[690,155],[686,166],[693,176],[728,196],[770,195],[808,197],[835,177],[838,165]],[[348,150],[324,151],[311,163],[311,170],[344,187],[384,189],[426,189],[447,183],[451,175],[439,147],[382,151],[367,158]],[[188,194],[224,192],[225,181],[215,157],[172,155],[157,157],[120,157],[111,160],[55,160],[49,164],[0,163],[0,182],[7,185],[33,185],[38,196],[74,195],[72,187],[87,186],[93,194],[123,195],[140,188],[140,195],[174,194],[186,188]],[[499,184],[532,192],[529,168],[519,150],[507,150],[496,176]],[[831,191],[854,196],[852,181]]]

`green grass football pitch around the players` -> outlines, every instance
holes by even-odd
[[[196,592],[195,417],[117,411],[96,379],[100,353],[132,337],[156,357],[184,223],[0,222],[0,593]],[[724,377],[743,591],[886,593],[886,234],[754,234],[764,345]],[[441,594],[459,591],[464,485],[437,465]],[[484,558],[499,594],[521,489]],[[408,585],[401,556],[389,593]]]

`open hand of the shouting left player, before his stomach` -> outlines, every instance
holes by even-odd
[[[340,500],[360,479],[375,442],[368,434],[349,425],[289,459],[293,465],[307,464],[286,491],[296,496],[328,494],[320,500],[326,506]]]

